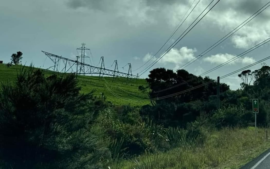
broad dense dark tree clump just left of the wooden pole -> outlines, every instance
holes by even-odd
[[[150,116],[165,126],[173,124],[184,126],[186,122],[195,120],[200,112],[205,111],[206,106],[203,102],[208,102],[211,95],[217,94],[217,82],[209,77],[197,77],[184,69],[173,72],[170,69],[156,68],[150,71],[148,77],[146,81],[151,89],[150,98],[171,96],[184,91],[156,100],[152,107],[142,108],[141,114]],[[203,85],[205,82],[210,83]],[[200,85],[201,87],[198,87]],[[189,89],[193,90],[188,91]],[[220,84],[221,93],[229,89],[228,85]],[[145,88],[140,86],[139,90],[144,91]]]

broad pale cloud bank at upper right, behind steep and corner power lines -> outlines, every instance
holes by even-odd
[[[168,19],[169,25],[175,27],[186,10],[189,8],[193,1],[189,1],[187,4],[178,3],[171,6],[167,6],[164,11],[165,17]],[[239,24],[248,19],[258,9],[265,5],[268,1],[260,0],[245,0],[235,1],[226,0],[220,1],[203,20],[200,22],[201,25],[218,26],[220,31],[224,32],[222,35],[226,35],[232,29],[237,27]],[[194,11],[185,21],[185,26],[189,25],[204,8],[210,3],[210,0],[199,2]],[[194,5],[193,5],[194,6]],[[193,7],[192,7],[193,8]],[[252,19],[248,24],[239,29],[230,38],[235,48],[250,48],[259,42],[264,41],[270,37],[270,7],[264,10],[261,14]],[[183,25],[183,26],[184,26]],[[217,39],[218,40],[218,39]],[[228,39],[229,40],[229,39]]]

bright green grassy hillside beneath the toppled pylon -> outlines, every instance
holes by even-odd
[[[4,64],[0,64],[0,82],[15,82],[17,72],[20,69],[21,66],[19,65],[7,67]],[[46,76],[53,73],[52,71],[44,71]],[[126,84],[127,78],[114,78],[113,82],[112,77],[99,78],[99,76],[79,75],[78,78],[79,85],[82,87],[82,93],[95,89],[95,94],[101,96],[100,93],[104,92],[107,100],[115,105],[130,104],[136,106],[150,103],[147,101],[147,95],[138,90],[139,85],[147,85],[145,79],[128,79],[128,84]]]

